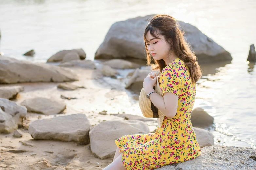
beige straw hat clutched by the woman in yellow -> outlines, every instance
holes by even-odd
[[[157,94],[163,96],[158,79],[159,77],[157,76],[156,85],[153,88]],[[141,112],[146,118],[157,118],[158,127],[161,127],[164,120],[164,114],[160,110],[158,110],[156,106],[154,106],[154,104],[151,102],[150,99],[147,98],[146,95],[147,94],[145,93],[144,88],[142,88],[139,96],[139,106]]]

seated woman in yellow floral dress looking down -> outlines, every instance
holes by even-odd
[[[156,15],[144,32],[147,63],[161,70],[159,85],[163,96],[154,92],[154,72],[144,79],[143,87],[152,103],[164,113],[155,133],[125,135],[115,141],[113,162],[104,170],[149,170],[195,159],[201,153],[190,116],[195,102],[196,82],[202,72],[184,40],[177,21],[169,15]]]

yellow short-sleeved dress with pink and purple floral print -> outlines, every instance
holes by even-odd
[[[115,141],[128,170],[150,170],[195,159],[201,153],[190,116],[195,102],[196,85],[192,84],[189,69],[179,58],[167,65],[161,73],[162,93],[178,96],[174,118],[165,116],[162,127],[155,133],[125,135]]]

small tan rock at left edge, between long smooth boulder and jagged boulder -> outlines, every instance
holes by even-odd
[[[4,86],[0,87],[0,98],[16,98],[18,92],[23,91],[23,86]]]

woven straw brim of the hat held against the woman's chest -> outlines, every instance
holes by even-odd
[[[157,94],[162,95],[161,88],[159,86],[158,77],[156,82],[156,88],[155,91]],[[153,112],[151,110],[151,100],[147,98],[144,88],[141,89],[140,96],[139,96],[139,106],[142,112],[142,115],[146,118],[153,118]],[[164,120],[164,114],[158,110],[158,115],[160,119],[160,124],[158,124],[159,127],[162,126],[162,122]]]

